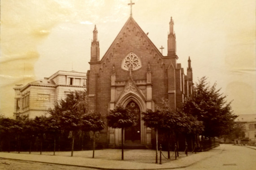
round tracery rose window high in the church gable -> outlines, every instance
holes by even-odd
[[[141,68],[141,61],[140,61],[139,57],[134,52],[130,52],[123,59],[121,68],[126,71],[129,71],[130,69],[132,71],[138,70],[139,68]]]

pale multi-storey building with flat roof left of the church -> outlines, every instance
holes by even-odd
[[[28,115],[29,118],[43,115],[49,107],[74,90],[86,89],[86,73],[58,71],[49,78],[27,85],[16,85],[13,116]]]

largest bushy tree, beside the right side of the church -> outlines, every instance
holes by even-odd
[[[182,106],[183,112],[203,122],[202,135],[208,137],[225,134],[237,117],[232,113],[231,102],[226,102],[226,96],[220,93],[221,89],[216,89],[216,85],[210,86],[207,78],[202,77],[195,85],[192,96],[186,98]]]

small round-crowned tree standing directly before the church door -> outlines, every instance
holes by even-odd
[[[122,157],[124,160],[124,128],[135,126],[137,124],[137,117],[125,107],[117,105],[113,110],[109,110],[107,116],[108,126],[112,128],[121,128],[122,138]]]

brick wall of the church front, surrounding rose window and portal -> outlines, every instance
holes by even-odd
[[[168,98],[174,109],[177,103],[179,106],[183,101],[184,91],[187,89],[183,87],[185,85],[184,71],[181,64],[177,64],[178,57],[163,56],[137,23],[130,18],[104,57],[100,61],[90,62],[90,70],[87,74],[90,110],[99,111],[103,115],[108,114],[113,66],[116,72],[116,82],[127,81],[130,72],[123,70],[121,64],[130,52],[139,57],[142,65],[142,68],[132,71],[132,79],[134,81],[147,80],[148,64],[150,64],[153,102],[159,105],[162,98]],[[105,133],[107,133],[107,128],[103,131],[103,134]]]

